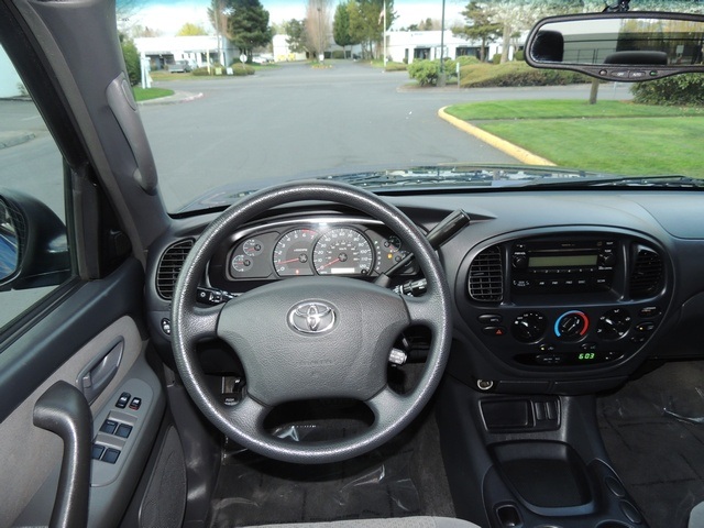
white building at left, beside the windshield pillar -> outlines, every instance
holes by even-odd
[[[165,69],[176,61],[187,61],[194,68],[208,63],[229,66],[240,56],[230,41],[215,35],[140,37],[134,44],[152,69]]]

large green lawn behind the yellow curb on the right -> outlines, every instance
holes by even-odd
[[[497,101],[447,112],[564,167],[704,177],[704,109],[620,101]]]

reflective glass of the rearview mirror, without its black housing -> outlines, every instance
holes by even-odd
[[[663,18],[598,16],[543,24],[530,45],[537,63],[701,65],[704,24]]]

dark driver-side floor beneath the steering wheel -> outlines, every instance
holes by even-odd
[[[316,440],[327,431],[308,424],[286,435]],[[286,465],[235,451],[228,452],[220,469],[211,528],[454,516],[431,411],[382,448],[344,463]]]

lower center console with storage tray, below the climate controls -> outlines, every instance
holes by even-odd
[[[458,516],[493,528],[647,527],[610,466],[594,402],[447,378],[436,416]]]

